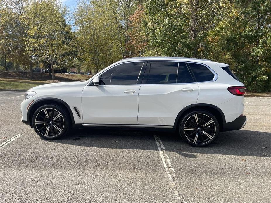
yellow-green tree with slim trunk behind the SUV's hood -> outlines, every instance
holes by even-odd
[[[58,1],[33,2],[21,16],[27,28],[24,43],[27,53],[36,61],[48,60],[52,70],[52,80],[55,80],[54,68],[67,49],[71,47],[69,36],[71,27],[65,21],[66,7]]]

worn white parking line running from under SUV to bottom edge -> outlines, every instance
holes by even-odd
[[[168,157],[168,153],[165,150],[163,142],[161,141],[161,139],[158,135],[154,135],[154,139],[157,144],[163,165],[165,167],[165,171],[168,174],[168,179],[170,180],[170,185],[174,191],[174,195],[175,195],[176,199],[182,201],[183,203],[187,203],[186,201],[184,201],[184,198],[181,196],[179,188],[177,187],[177,183],[176,183],[177,177],[175,175],[174,168],[170,162],[170,159]]]

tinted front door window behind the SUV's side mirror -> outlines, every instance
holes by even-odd
[[[101,85],[135,85],[144,62],[123,63],[115,66],[100,78]]]

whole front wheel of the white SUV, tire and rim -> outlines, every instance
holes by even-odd
[[[35,111],[32,126],[40,137],[46,140],[58,139],[69,130],[70,114],[59,104],[45,104]]]

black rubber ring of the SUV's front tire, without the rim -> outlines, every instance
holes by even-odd
[[[62,107],[62,108],[61,108],[61,107],[62,107],[62,106],[57,105],[57,104],[45,104],[45,105],[39,107],[39,108],[34,112],[34,114],[33,114],[33,116],[32,116],[32,126],[33,126],[35,132],[36,132],[40,137],[42,137],[42,138],[44,138],[44,139],[46,139],[46,140],[54,140],[54,139],[58,139],[59,137],[63,136],[63,135],[67,132],[68,126],[70,126],[70,119],[69,119],[69,117],[68,117],[67,111],[66,111],[65,109],[63,109],[63,107]],[[46,137],[46,136],[42,135],[42,134],[39,132],[39,130],[37,130],[37,127],[36,127],[36,125],[35,125],[35,119],[36,119],[37,114],[38,114],[40,111],[42,111],[43,109],[45,109],[45,108],[56,109],[56,110],[57,110],[59,113],[61,113],[62,116],[63,116],[63,119],[64,119],[64,128],[63,128],[62,132],[61,132],[59,135],[57,135],[56,137]]]

